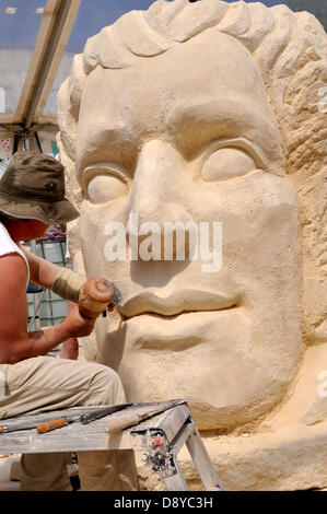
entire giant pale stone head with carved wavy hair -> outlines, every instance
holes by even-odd
[[[124,299],[85,354],[119,373],[129,400],[186,397],[226,489],[305,488],[283,464],[259,479],[260,457],[273,446],[282,458],[284,424],[294,442],[326,418],[316,389],[327,369],[326,117],[316,94],[326,58],[308,13],[157,1],[90,38],[59,93],[58,143],[81,209],[74,266],[114,280]],[[161,236],[166,221],[221,222],[221,268],[108,261],[112,224],[133,213],[139,245],[149,222]],[[256,458],[262,468],[244,481]],[[312,481],[326,484],[326,472]]]

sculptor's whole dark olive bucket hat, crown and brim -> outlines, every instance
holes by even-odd
[[[65,170],[57,159],[40,152],[13,154],[0,179],[0,211],[44,223],[67,223],[79,217],[65,198]]]

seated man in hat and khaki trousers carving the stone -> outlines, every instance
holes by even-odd
[[[55,221],[63,223],[79,215],[65,198],[63,166],[39,152],[15,152],[0,180],[0,419],[79,405],[125,402],[117,373],[73,359],[73,338],[91,334],[95,320],[82,316],[74,305],[85,280],[20,244],[40,237]],[[27,332],[30,278],[72,302],[62,322],[32,332]],[[47,354],[60,343],[63,359]],[[21,489],[71,490],[69,460],[70,454],[62,452],[22,455]],[[137,487],[130,451],[81,452],[79,476],[82,490]]]

